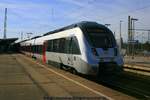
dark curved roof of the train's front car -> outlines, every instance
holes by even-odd
[[[101,25],[101,24],[98,24],[96,22],[82,21],[82,22],[79,22],[79,23],[75,23],[75,24],[60,28],[60,29],[56,29],[54,31],[50,31],[50,32],[44,34],[43,36],[46,36],[46,35],[49,35],[49,34],[54,34],[54,33],[64,31],[64,30],[67,30],[67,29],[72,29],[72,28],[75,28],[75,27],[80,27],[82,30],[85,30],[85,28],[87,28],[87,27],[101,27],[101,28],[103,27],[104,28],[105,26]]]

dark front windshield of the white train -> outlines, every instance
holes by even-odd
[[[110,31],[94,29],[87,33],[89,43],[95,48],[112,48],[115,46],[115,39]]]

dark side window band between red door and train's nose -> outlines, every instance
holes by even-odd
[[[68,54],[80,54],[80,48],[76,37],[49,40],[47,51]]]

